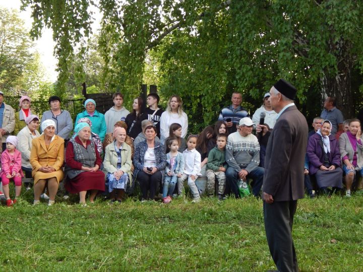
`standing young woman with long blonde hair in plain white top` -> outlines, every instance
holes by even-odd
[[[185,138],[188,131],[188,116],[183,111],[183,101],[178,95],[172,95],[168,102],[166,110],[160,117],[160,141],[165,142],[169,137],[169,126],[172,123],[181,125],[181,138]]]

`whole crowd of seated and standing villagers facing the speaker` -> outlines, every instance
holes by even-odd
[[[188,116],[177,95],[169,98],[164,112],[157,94],[148,95],[146,110],[138,97],[130,113],[123,106],[123,94],[115,93],[114,106],[104,115],[96,110],[94,100],[87,99],[85,110],[73,122],[57,96],[48,99],[50,110],[40,119],[31,110],[30,97],[20,98],[15,113],[0,91],[0,194],[5,195],[7,206],[14,205],[25,177],[33,179],[34,205],[40,198],[52,205],[62,181],[67,194],[79,195],[82,206],[87,206],[87,195],[93,203],[105,192],[115,203],[136,195],[137,188],[142,202],[185,198],[186,188],[192,202],[200,202],[203,196],[223,200],[246,193],[260,198],[265,148],[278,118],[269,97],[264,95],[263,105],[251,119],[240,105],[242,95],[233,93],[232,104],[221,110],[214,125],[188,135]],[[363,175],[360,121],[342,120],[335,99],[328,97],[312,126],[302,166],[308,195],[331,195],[345,185],[345,196],[350,197],[357,177]]]

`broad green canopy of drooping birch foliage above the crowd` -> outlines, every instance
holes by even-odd
[[[345,117],[354,115],[352,94],[358,90],[352,90],[351,77],[361,83],[358,73],[363,71],[359,1],[22,2],[33,11],[33,36],[44,25],[54,31],[60,86],[68,77],[73,48],[80,48],[81,58],[85,55],[80,44],[90,33],[87,11],[97,4],[103,13],[98,41],[105,62],[102,81],[127,99],[139,93],[146,60],[152,59],[162,95],[181,95],[198,122],[200,116],[204,123],[215,119],[232,91],[260,103],[280,77],[297,87],[305,113],[320,113],[315,103],[329,95],[338,98]],[[307,103],[310,98],[315,103]]]

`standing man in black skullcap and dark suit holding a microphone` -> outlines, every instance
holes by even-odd
[[[280,79],[270,90],[269,101],[277,115],[265,158],[263,181],[267,243],[279,271],[298,271],[292,241],[297,199],[304,197],[304,160],[308,124],[293,100],[296,89]],[[263,126],[262,134],[267,132]]]

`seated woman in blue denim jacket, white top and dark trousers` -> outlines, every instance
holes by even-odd
[[[134,178],[140,183],[142,192],[141,201],[153,200],[159,188],[166,166],[164,146],[155,141],[156,127],[148,125],[145,128],[146,140],[135,147]]]

